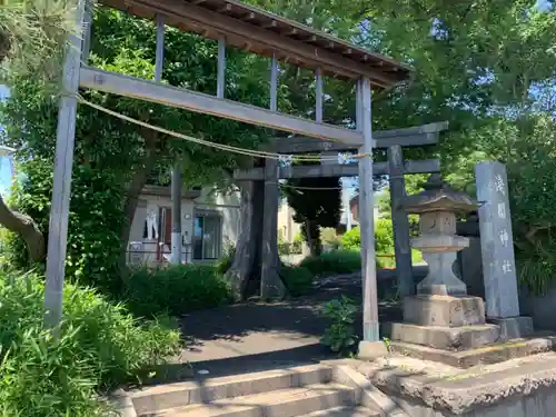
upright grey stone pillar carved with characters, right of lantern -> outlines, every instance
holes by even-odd
[[[487,161],[475,166],[479,208],[486,315],[519,316],[514,239],[509,214],[506,168]]]

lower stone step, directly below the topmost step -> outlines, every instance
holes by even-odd
[[[149,414],[151,417],[297,417],[315,411],[351,406],[355,407],[355,389],[337,384],[311,384],[304,387],[286,388],[236,398],[222,398],[208,404],[191,404],[183,407],[161,409]],[[230,409],[226,409],[230,407]],[[139,414],[141,415],[141,414]]]

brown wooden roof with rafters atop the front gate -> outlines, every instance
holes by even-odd
[[[101,3],[208,39],[324,73],[389,88],[410,78],[413,69],[325,32],[236,0],[100,0]]]

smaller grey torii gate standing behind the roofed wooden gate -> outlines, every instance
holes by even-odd
[[[404,160],[401,147],[429,146],[439,140],[440,131],[448,128],[447,122],[436,122],[405,129],[377,131],[373,135],[375,148],[387,148],[388,161],[373,163],[374,175],[388,175],[391,201],[391,219],[394,225],[394,245],[396,255],[396,276],[400,297],[415,294],[415,282],[411,269],[411,250],[409,247],[409,221],[407,214],[398,208],[404,198],[404,175],[433,173],[440,171],[440,163],[436,159]],[[277,138],[269,150],[281,155],[294,153],[330,153],[357,151],[357,148],[345,142],[322,141],[307,137]],[[277,172],[275,176],[274,173]],[[270,177],[268,176],[270,173]],[[267,171],[265,168],[236,170],[234,178],[237,181],[266,181],[266,189],[275,188],[272,192],[265,192],[264,218],[277,219],[278,180],[291,178],[320,178],[320,177],[356,177],[359,168],[356,165],[324,163],[298,165],[282,167],[279,170]],[[277,226],[277,225],[276,225]],[[277,251],[275,227],[264,229],[261,246]],[[275,249],[276,248],[276,249]],[[265,270],[262,271],[265,274]]]

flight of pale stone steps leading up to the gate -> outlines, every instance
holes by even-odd
[[[301,366],[129,393],[137,417],[379,417],[332,369]]]

